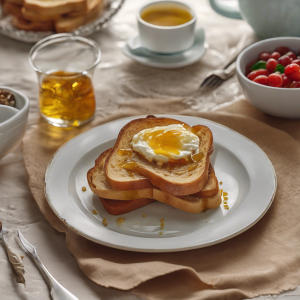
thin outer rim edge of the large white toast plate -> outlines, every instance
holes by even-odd
[[[247,140],[247,142],[253,144],[255,147],[257,147],[257,149],[261,152],[262,155],[264,155],[264,158],[266,159],[266,161],[268,162],[269,166],[271,167],[271,170],[272,170],[272,175],[273,175],[273,180],[274,180],[274,189],[272,191],[272,195],[271,195],[271,198],[268,202],[268,205],[265,207],[265,209],[263,211],[260,212],[260,215],[255,219],[255,220],[252,220],[252,222],[250,222],[249,224],[243,226],[242,228],[239,228],[235,231],[233,231],[232,233],[228,234],[228,235],[225,235],[223,236],[222,238],[215,238],[215,239],[212,239],[210,240],[209,242],[206,242],[206,243],[203,243],[203,244],[195,244],[193,246],[182,246],[182,247],[176,247],[176,248],[170,248],[170,249],[161,249],[161,248],[137,248],[137,247],[127,247],[127,246],[122,246],[122,245],[116,245],[114,243],[110,243],[110,242],[106,242],[106,241],[103,241],[103,240],[99,240],[99,239],[94,239],[93,237],[91,236],[88,236],[86,235],[85,233],[79,231],[78,229],[74,228],[73,226],[71,226],[70,224],[68,224],[68,222],[66,222],[66,220],[64,218],[62,218],[60,216],[60,214],[58,213],[58,211],[55,209],[55,207],[52,205],[51,203],[51,199],[50,197],[47,195],[47,182],[46,182],[46,179],[47,179],[47,176],[50,172],[50,168],[52,166],[52,163],[56,157],[56,155],[59,153],[59,151],[61,151],[61,149],[63,149],[65,146],[67,146],[69,143],[71,143],[74,139],[80,139],[81,136],[84,136],[86,134],[91,134],[91,131],[94,131],[96,129],[98,129],[99,127],[102,127],[102,126],[106,126],[106,125],[109,125],[109,124],[113,124],[113,123],[116,123],[116,122],[120,122],[120,121],[125,121],[125,120],[133,120],[133,119],[137,119],[137,118],[144,118],[146,117],[147,115],[136,115],[136,116],[131,116],[131,117],[123,117],[123,118],[119,118],[119,119],[116,119],[116,120],[112,120],[112,121],[109,121],[109,122],[106,122],[106,123],[103,123],[103,124],[100,124],[98,126],[95,126],[91,129],[89,129],[88,131],[85,131],[77,136],[75,136],[74,138],[72,138],[71,140],[67,141],[66,143],[64,143],[63,145],[61,145],[57,150],[56,152],[53,154],[53,156],[51,157],[48,165],[47,165],[47,168],[46,168],[46,171],[45,171],[45,179],[44,179],[44,195],[45,195],[45,198],[47,200],[47,203],[49,204],[49,206],[51,207],[52,211],[55,213],[55,215],[65,223],[65,225],[67,225],[67,227],[69,229],[71,229],[72,231],[76,232],[77,234],[79,234],[80,236],[88,239],[88,240],[91,240],[97,244],[101,244],[101,245],[104,245],[104,246],[107,246],[107,247],[111,247],[111,248],[115,248],[115,249],[120,249],[120,250],[126,250],[126,251],[133,251],[133,252],[148,252],[148,253],[167,253],[167,252],[181,252],[181,251],[188,251],[188,250],[193,250],[193,249],[199,249],[199,248],[204,248],[204,247],[209,247],[209,246],[212,246],[212,245],[215,245],[215,244],[219,244],[219,243],[222,243],[224,241],[227,241],[231,238],[234,238],[236,237],[237,235],[245,232],[246,230],[248,230],[249,228],[251,228],[252,226],[254,226],[258,221],[261,220],[261,218],[266,214],[266,212],[269,210],[269,208],[271,207],[272,203],[273,203],[273,200],[275,198],[275,195],[276,195],[276,191],[277,191],[277,176],[276,176],[276,172],[275,172],[275,168],[272,164],[272,162],[270,161],[269,157],[267,156],[267,154],[255,143],[253,142],[251,139],[247,138],[246,136],[240,134],[239,132],[223,125],[223,124],[220,124],[218,122],[215,122],[215,121],[211,121],[209,119],[206,119],[206,118],[201,118],[201,117],[195,117],[195,116],[187,116],[187,115],[169,115],[169,114],[155,114],[155,116],[157,117],[167,117],[167,118],[180,118],[180,117],[183,117],[183,118],[188,118],[188,119],[198,119],[198,120],[205,120],[207,121],[208,123],[213,123],[214,125],[216,125],[217,127],[223,127],[224,129],[226,130],[229,130],[231,131],[232,133],[238,135],[239,137]],[[112,140],[111,138],[108,138],[108,139],[105,139],[103,140],[101,143],[99,143],[98,145],[96,146],[99,146],[101,144],[104,144],[108,141]],[[95,146],[95,147],[96,147]],[[82,156],[81,156],[82,157]],[[77,161],[78,162],[78,161]],[[114,232],[114,234],[116,235],[124,235],[122,233],[119,233],[119,232]],[[188,234],[187,234],[188,235]],[[184,235],[184,236],[187,236],[187,235]],[[137,237],[137,236],[128,236],[130,237],[130,239],[137,239],[137,240],[149,240],[149,238],[146,238],[146,237]],[[182,237],[182,236],[181,236]],[[176,239],[176,238],[180,238],[179,237],[167,237],[167,239]],[[151,240],[160,240],[160,238],[151,238]]]

